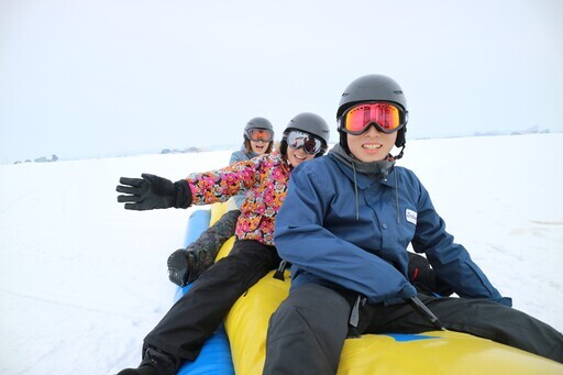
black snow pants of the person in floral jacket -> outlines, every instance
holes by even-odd
[[[236,241],[231,253],[201,274],[146,335],[143,353],[153,348],[194,361],[239,297],[279,262],[274,246]]]

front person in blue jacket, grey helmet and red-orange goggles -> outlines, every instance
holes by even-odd
[[[563,335],[511,308],[445,231],[415,173],[395,165],[407,110],[391,78],[357,78],[336,112],[340,143],[291,174],[274,238],[292,264],[291,288],[269,320],[264,374],[336,374],[347,335],[437,327],[563,362]],[[413,287],[409,243],[460,298]]]

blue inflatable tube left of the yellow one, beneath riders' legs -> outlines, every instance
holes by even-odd
[[[196,241],[209,227],[210,217],[210,210],[197,210],[191,213],[184,238],[184,246]],[[178,300],[190,287],[191,285],[187,285],[184,288],[178,288],[175,300]],[[203,344],[196,361],[186,362],[178,371],[178,375],[200,374],[234,375],[231,348],[223,324]]]

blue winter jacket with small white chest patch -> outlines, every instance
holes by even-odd
[[[412,295],[407,279],[412,243],[460,297],[511,306],[465,247],[453,242],[428,191],[404,167],[375,180],[360,173],[354,177],[330,154],[299,165],[277,214],[274,241],[282,258],[292,264],[292,288],[336,285],[372,304],[397,302]]]

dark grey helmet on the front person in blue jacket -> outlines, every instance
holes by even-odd
[[[365,101],[387,101],[398,106],[401,109],[401,117],[405,125],[397,133],[397,147],[404,147],[406,143],[405,133],[407,132],[407,98],[402,93],[399,84],[394,79],[383,75],[367,75],[356,78],[350,84],[340,99],[336,119],[339,121],[340,143],[347,150],[345,133],[341,131],[342,114],[351,107]],[[401,153],[402,154],[402,153]]]

